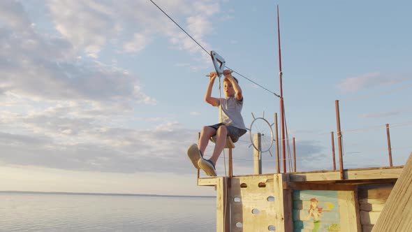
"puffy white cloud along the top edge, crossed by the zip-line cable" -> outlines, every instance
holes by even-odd
[[[200,42],[212,30],[210,18],[219,12],[214,1],[156,1],[175,22]],[[125,52],[140,52],[148,36],[165,36],[173,45],[196,52],[193,41],[149,1],[47,1],[54,27],[78,52],[97,58],[109,41]],[[196,16],[193,16],[196,15]],[[186,18],[186,24],[178,20]],[[87,22],[87,23],[84,23]],[[124,41],[123,38],[132,38]],[[118,44],[119,45],[119,44]],[[194,43],[196,45],[196,43]],[[206,43],[205,43],[206,45]],[[197,45],[196,45],[197,46]]]

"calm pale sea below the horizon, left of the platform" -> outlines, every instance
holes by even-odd
[[[0,231],[216,231],[216,198],[0,192]]]

